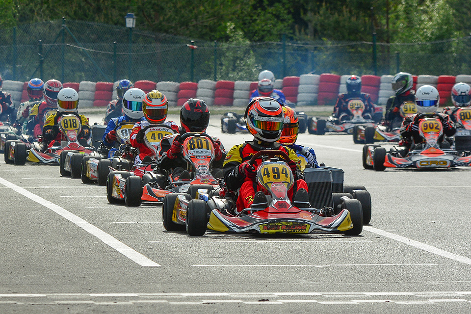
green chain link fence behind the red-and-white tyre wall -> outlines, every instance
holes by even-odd
[[[284,38],[284,37],[283,37]],[[80,21],[0,30],[3,79],[65,81],[253,80],[305,73],[458,75],[471,71],[471,37],[429,43],[190,42],[189,38]]]

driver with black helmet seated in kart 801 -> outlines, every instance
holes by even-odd
[[[182,144],[178,141],[181,135],[186,132],[206,132],[209,124],[209,108],[201,99],[190,98],[180,109],[180,128],[178,134],[165,136],[160,141],[157,164],[163,169],[171,169],[171,179],[189,180],[189,173],[186,169],[187,162],[181,156]],[[226,157],[224,146],[219,138],[211,136],[214,142],[214,161],[212,163],[212,173],[218,178]]]

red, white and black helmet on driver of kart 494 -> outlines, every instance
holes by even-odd
[[[282,106],[270,97],[255,97],[244,113],[247,130],[259,141],[273,143],[280,139],[285,114]]]

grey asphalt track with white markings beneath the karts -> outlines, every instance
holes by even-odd
[[[208,133],[250,139],[219,117]],[[371,193],[360,236],[166,232],[160,206],[2,161],[0,313],[470,312],[471,169],[374,172],[351,135],[298,143]]]

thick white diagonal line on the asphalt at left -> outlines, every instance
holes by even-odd
[[[86,232],[88,232],[91,235],[96,236],[100,240],[102,240],[105,244],[111,246],[113,249],[116,251],[120,252],[127,258],[129,258],[131,261],[138,263],[141,266],[145,267],[158,267],[160,266],[156,262],[151,261],[144,255],[140,254],[139,252],[131,249],[129,246],[124,244],[123,242],[119,241],[115,237],[108,235],[105,233],[103,230],[95,227],[94,225],[90,224],[89,222],[83,220],[82,218],[78,217],[77,215],[74,215],[68,210],[63,209],[62,207],[55,205],[45,199],[43,199],[40,196],[37,196],[36,194],[33,194],[23,187],[20,187],[18,185],[15,185],[3,178],[0,178],[0,183],[11,188],[12,190],[22,194],[23,196],[26,196],[29,198],[31,201],[34,201],[38,203],[39,205],[42,205],[44,207],[47,207],[54,211],[55,213],[61,215],[65,219],[71,221],[72,223],[76,224],[78,227],[82,228]]]

